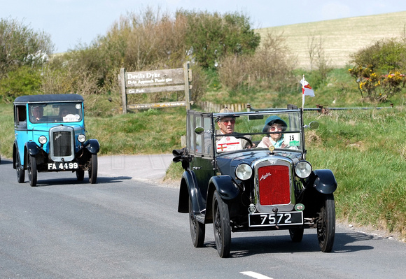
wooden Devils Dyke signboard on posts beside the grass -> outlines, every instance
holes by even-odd
[[[123,113],[127,113],[128,109],[168,108],[174,106],[186,106],[186,109],[190,109],[192,72],[189,69],[189,62],[183,64],[183,69],[126,72],[122,68],[120,69],[119,79],[123,98]],[[127,104],[127,94],[176,91],[185,92],[185,101]]]

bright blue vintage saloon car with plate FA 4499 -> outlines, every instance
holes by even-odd
[[[13,168],[18,183],[36,186],[37,173],[71,171],[79,181],[85,171],[97,181],[99,142],[85,136],[83,97],[78,94],[20,96],[14,101]]]

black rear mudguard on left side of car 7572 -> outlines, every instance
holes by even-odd
[[[185,183],[183,183],[185,181]],[[202,213],[206,209],[206,203],[201,194],[197,194],[199,189],[196,187],[196,177],[193,171],[184,171],[182,175],[181,189],[179,189],[179,213],[189,212],[189,196],[192,199],[193,212]]]

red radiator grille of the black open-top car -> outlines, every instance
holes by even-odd
[[[258,169],[259,200],[261,206],[290,203],[289,167],[272,165]]]

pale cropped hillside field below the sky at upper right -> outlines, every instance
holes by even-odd
[[[297,55],[297,67],[310,68],[309,38],[323,41],[325,57],[330,65],[346,66],[351,53],[371,45],[382,38],[405,37],[406,11],[363,17],[348,17],[339,20],[325,20],[303,24],[257,29],[263,36],[268,31],[282,34],[286,45]]]

